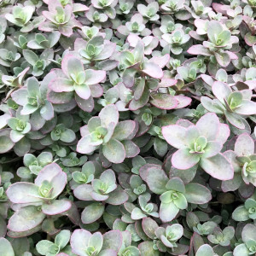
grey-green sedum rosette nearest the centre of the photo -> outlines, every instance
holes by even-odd
[[[102,108],[98,117],[91,118],[88,125],[81,128],[78,152],[90,154],[101,148],[104,157],[116,164],[125,157],[136,156],[139,148],[131,141],[137,131],[136,123],[126,120],[118,124],[118,120],[119,112],[113,104]]]

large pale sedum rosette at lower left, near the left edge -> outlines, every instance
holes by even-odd
[[[7,190],[9,200],[20,205],[9,219],[9,230],[34,232],[46,216],[67,212],[72,204],[67,200],[56,200],[67,183],[67,174],[55,163],[45,166],[38,173],[35,183],[15,183]],[[29,218],[27,218],[29,217]]]

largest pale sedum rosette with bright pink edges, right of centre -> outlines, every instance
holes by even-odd
[[[211,125],[211,131],[208,129]],[[221,124],[214,113],[207,113],[197,121],[183,125],[168,125],[162,128],[167,143],[178,150],[172,155],[172,166],[187,170],[195,165],[220,180],[229,180],[234,176],[233,166],[220,151],[230,136],[227,125]],[[175,136],[174,136],[175,135]],[[215,165],[220,164],[218,170]]]

